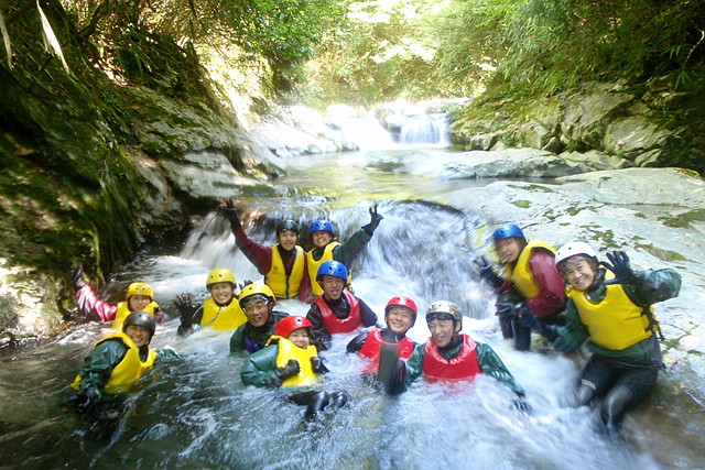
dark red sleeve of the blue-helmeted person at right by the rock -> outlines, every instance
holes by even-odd
[[[563,277],[555,269],[553,254],[544,250],[533,250],[529,258],[529,269],[539,286],[539,295],[527,299],[527,306],[539,318],[555,314],[565,303]]]

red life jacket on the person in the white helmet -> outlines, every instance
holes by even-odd
[[[427,382],[471,380],[482,372],[479,362],[477,362],[477,345],[468,335],[460,336],[463,337],[463,349],[457,357],[451,360],[441,356],[436,342],[433,338],[429,338],[423,360],[423,375]]]

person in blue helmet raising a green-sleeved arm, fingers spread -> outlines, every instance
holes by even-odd
[[[323,294],[323,287],[318,284],[318,269],[326,261],[338,261],[346,266],[350,266],[355,258],[369,243],[377,226],[383,219],[377,212],[377,206],[369,209],[370,221],[355,232],[345,243],[340,244],[335,239],[333,225],[327,220],[316,220],[308,227],[308,234],[313,241],[313,249],[306,254],[308,276],[313,295]],[[351,277],[348,277],[347,285],[350,288]]]

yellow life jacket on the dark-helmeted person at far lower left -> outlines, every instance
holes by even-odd
[[[108,341],[111,339],[119,339],[122,343],[128,348],[128,352],[124,354],[124,358],[112,368],[112,372],[110,373],[110,378],[108,382],[100,390],[102,393],[107,393],[109,395],[129,392],[131,390],[132,382],[144,376],[154,365],[154,361],[156,360],[156,352],[152,348],[149,348],[149,352],[147,354],[147,360],[142,362],[140,359],[140,349],[134,346],[132,339],[123,332],[118,332],[115,335],[108,335],[105,338],[99,339],[94,349],[104,341]],[[83,378],[80,374],[76,375],[76,380],[70,386],[75,390],[79,389],[80,381]]]

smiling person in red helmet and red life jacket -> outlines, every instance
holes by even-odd
[[[409,297],[395,296],[390,298],[384,307],[386,328],[372,328],[362,331],[350,342],[347,351],[354,352],[370,361],[366,372],[377,374],[379,369],[380,349],[383,345],[397,349],[400,359],[409,359],[414,351],[414,342],[406,338],[406,331],[416,323],[416,303]]]

